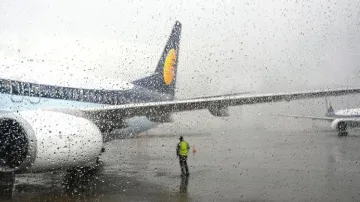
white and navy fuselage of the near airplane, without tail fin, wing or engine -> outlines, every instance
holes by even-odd
[[[0,66],[0,111],[12,112],[23,110],[49,109],[60,112],[76,111],[78,108],[106,107],[114,104],[127,104],[149,101],[171,100],[173,96],[149,91],[131,82],[101,77],[88,76],[80,72],[69,73],[66,68],[50,66],[44,63],[20,63]],[[35,85],[33,85],[35,84]],[[71,93],[69,97],[52,98],[43,96],[44,91],[51,91],[51,87],[63,89],[61,93]],[[68,89],[91,89],[92,95],[87,95],[82,90],[65,92]],[[21,91],[21,92],[20,92]],[[96,95],[96,92],[117,92],[117,94]],[[133,93],[134,92],[134,93]],[[52,92],[50,92],[51,94]],[[59,93],[59,92],[55,92]],[[77,95],[74,95],[76,94]],[[108,96],[110,95],[110,97]],[[97,99],[97,100],[92,100]],[[107,102],[106,100],[111,100]],[[83,116],[86,116],[85,114]],[[91,117],[84,117],[91,119]],[[114,125],[116,133],[120,135],[134,135],[149,130],[158,125],[147,117],[118,117],[113,120],[92,120],[96,123]],[[121,122],[121,123],[120,123]],[[119,125],[116,125],[119,123]],[[99,126],[99,125],[98,125]],[[100,126],[101,128],[101,126]]]

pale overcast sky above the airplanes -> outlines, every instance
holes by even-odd
[[[1,0],[0,55],[133,80],[155,69],[175,20],[179,97],[358,80],[358,0]]]

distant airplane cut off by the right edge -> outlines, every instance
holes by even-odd
[[[336,130],[338,132],[339,136],[347,136],[348,128],[360,127],[360,109],[359,108],[334,110],[331,102],[326,98],[325,98],[325,104],[326,104],[326,113],[325,113],[325,116],[323,116],[323,117],[321,117],[321,116],[289,115],[289,114],[279,114],[277,116],[328,121],[331,123],[331,128],[333,130]]]

